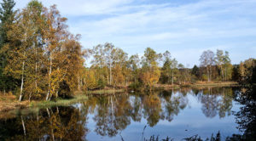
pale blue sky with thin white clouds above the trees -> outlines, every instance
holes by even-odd
[[[24,8],[29,0],[16,0]],[[232,64],[256,58],[256,0],[41,0],[56,4],[84,48],[113,42],[128,54],[145,48],[185,66],[204,50],[230,52]]]

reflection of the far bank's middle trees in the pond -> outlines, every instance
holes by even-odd
[[[116,136],[124,130],[131,124],[131,119],[141,121],[143,117],[150,127],[154,127],[160,120],[172,121],[173,116],[183,110],[187,103],[188,99],[182,93],[172,96],[170,92],[167,92],[165,98],[159,93],[121,94],[90,97],[86,102],[89,105],[88,109],[94,111],[95,132],[109,137]]]

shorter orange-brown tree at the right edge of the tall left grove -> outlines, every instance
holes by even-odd
[[[58,77],[58,81],[62,86],[57,87],[59,90],[66,87],[69,92],[73,93],[76,90],[80,90],[82,87],[81,76],[84,67],[84,59],[79,39],[80,35],[74,37],[71,34],[66,37],[65,42],[62,44],[61,54],[59,55],[59,57],[62,57],[58,60],[58,69],[61,70],[62,73],[61,77]],[[56,91],[56,94],[58,94],[58,90]]]

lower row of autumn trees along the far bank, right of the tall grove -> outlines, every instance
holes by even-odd
[[[135,54],[128,57],[121,48],[106,42],[87,49],[86,53],[91,58],[91,65],[84,68],[84,81],[81,82],[86,90],[106,86],[150,90],[156,84],[169,84],[173,87],[199,81],[241,82],[255,79],[256,59],[232,65],[229,52],[220,49],[216,53],[212,50],[204,51],[199,59],[201,64],[193,68],[178,63],[168,50],[159,54],[153,48],[146,48],[143,56]]]

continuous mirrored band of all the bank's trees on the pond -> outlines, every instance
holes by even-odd
[[[113,138],[128,126],[133,126],[134,122],[147,121],[146,126],[153,128],[160,121],[172,123],[176,116],[194,104],[200,104],[201,113],[207,118],[221,119],[231,115],[235,90],[235,87],[208,87],[151,94],[90,96],[88,100],[72,106],[54,107],[39,110],[36,114],[0,120],[0,139],[85,140],[88,133]],[[89,118],[95,122],[94,127],[88,126]]]

